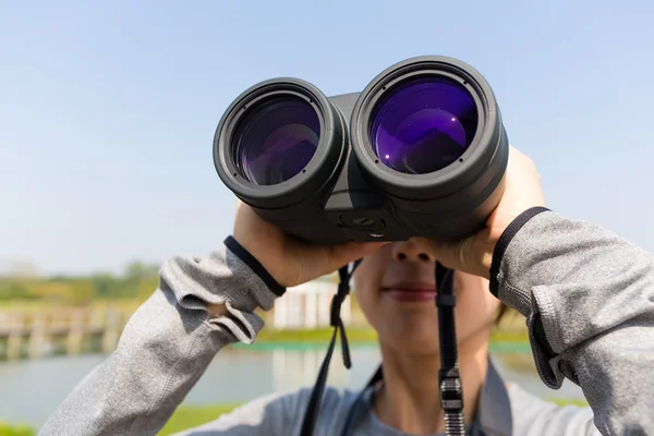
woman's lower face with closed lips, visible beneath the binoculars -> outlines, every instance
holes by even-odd
[[[403,353],[432,354],[438,348],[435,259],[425,240],[388,244],[363,259],[354,292],[363,313],[386,347]],[[455,272],[457,341],[485,338],[499,301],[484,278]]]

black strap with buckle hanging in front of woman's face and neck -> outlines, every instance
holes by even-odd
[[[438,307],[438,336],[440,340],[440,407],[445,411],[445,434],[463,436],[463,388],[459,372],[457,334],[455,330],[453,271],[436,263],[436,306]]]

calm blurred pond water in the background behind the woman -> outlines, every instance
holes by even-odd
[[[312,386],[324,355],[324,350],[223,350],[186,396],[184,404],[247,401],[275,391]],[[40,427],[74,386],[105,359],[96,354],[0,363],[0,419]],[[520,383],[534,395],[583,398],[581,390],[569,382],[560,390],[545,387],[530,355],[508,359],[496,354],[493,359],[505,379]],[[379,364],[379,352],[376,348],[353,349],[352,362],[352,368],[347,371],[340,353],[335,353],[329,385],[361,389]]]

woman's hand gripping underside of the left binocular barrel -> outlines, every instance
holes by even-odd
[[[293,287],[330,274],[374,253],[384,242],[347,242],[318,245],[299,240],[266,222],[239,201],[233,238],[247,250],[282,287]]]

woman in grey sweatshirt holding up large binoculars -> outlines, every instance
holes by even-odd
[[[40,434],[156,434],[222,347],[255,340],[263,326],[256,307],[270,310],[286,287],[361,257],[354,288],[378,332],[384,376],[361,395],[327,389],[316,435],[444,432],[436,261],[457,271],[459,361],[472,434],[654,434],[654,258],[544,204],[533,164],[514,148],[487,228],[458,243],[312,246],[241,204],[225,246],[207,258],[164,265],[159,289],[131,318],[117,350]],[[570,378],[592,409],[557,408],[498,383],[487,348],[499,301],[526,316],[544,383],[558,387]],[[302,389],[261,398],[187,434],[296,435],[308,396]]]

